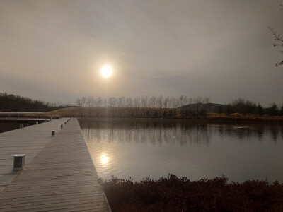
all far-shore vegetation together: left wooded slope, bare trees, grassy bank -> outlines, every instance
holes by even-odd
[[[238,98],[229,104],[211,103],[209,98],[179,98],[140,96],[135,98],[110,97],[108,99],[88,96],[77,98],[76,107],[52,104],[19,95],[0,93],[0,111],[46,112],[27,114],[30,118],[60,117],[113,117],[113,118],[163,118],[207,119],[226,122],[275,122],[283,123],[283,105],[275,103],[262,107],[259,103]]]

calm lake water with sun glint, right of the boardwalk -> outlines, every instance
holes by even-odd
[[[283,126],[80,119],[98,176],[283,182]]]

